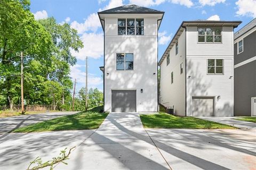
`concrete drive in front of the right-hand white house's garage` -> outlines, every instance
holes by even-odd
[[[199,117],[199,118],[202,118],[208,121],[227,124],[230,126],[235,126],[236,128],[239,128],[239,129],[256,131],[256,123],[236,120],[236,119],[239,119],[239,117]]]

